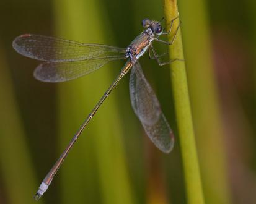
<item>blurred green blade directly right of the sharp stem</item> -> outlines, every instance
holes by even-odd
[[[205,1],[182,1],[183,42],[206,203],[230,203]]]

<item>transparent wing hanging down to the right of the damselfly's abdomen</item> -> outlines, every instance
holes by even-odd
[[[130,98],[135,114],[148,137],[159,150],[169,153],[174,146],[174,135],[139,62],[131,69]]]

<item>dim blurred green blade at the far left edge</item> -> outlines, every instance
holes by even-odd
[[[35,172],[4,53],[0,48],[0,169],[7,202],[34,203]],[[42,203],[42,202],[39,202]]]

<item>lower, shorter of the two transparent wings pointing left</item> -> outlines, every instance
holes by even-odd
[[[45,62],[34,71],[34,77],[42,82],[65,82],[82,77],[99,69],[109,61],[125,59],[124,56],[108,56],[73,62]]]

